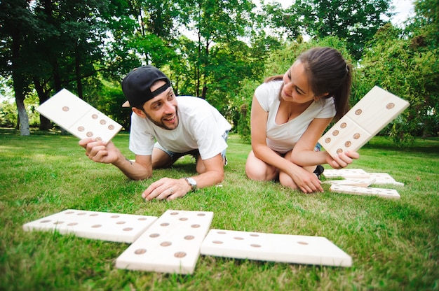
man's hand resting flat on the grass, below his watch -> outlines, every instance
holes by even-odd
[[[191,191],[191,186],[182,179],[161,178],[149,185],[147,190],[142,193],[142,198],[147,201],[152,199],[174,200],[183,197]]]

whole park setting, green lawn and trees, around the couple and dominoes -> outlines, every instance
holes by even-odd
[[[390,1],[0,2],[0,290],[438,290],[438,1],[414,1],[393,22]],[[374,85],[410,102],[360,149],[351,168],[390,173],[401,199],[306,195],[245,177],[255,87],[313,46],[354,67],[351,105]],[[182,159],[145,181],[90,162],[77,139],[36,106],[66,88],[120,122],[121,79],[153,64],[177,94],[201,97],[234,125],[226,179],[177,201],[145,203],[154,180],[194,175]],[[39,232],[25,222],[67,208],[159,216],[213,211],[212,227],[325,236],[353,267],[202,256],[191,276],[115,269],[126,244]]]

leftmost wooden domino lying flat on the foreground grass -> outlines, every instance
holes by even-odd
[[[156,220],[156,216],[67,209],[25,223],[25,231],[52,231],[86,239],[133,243]]]

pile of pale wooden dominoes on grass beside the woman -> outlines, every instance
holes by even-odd
[[[404,185],[392,178],[389,173],[367,173],[363,169],[328,169],[323,176],[330,178],[344,178],[342,180],[326,180],[331,184],[330,191],[344,194],[376,195],[384,198],[400,198],[397,190],[370,185]]]

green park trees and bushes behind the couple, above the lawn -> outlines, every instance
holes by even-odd
[[[331,46],[353,64],[351,105],[374,85],[410,102],[380,134],[402,145],[437,136],[438,4],[414,1],[403,21],[388,0],[2,1],[0,127],[52,129],[35,108],[66,88],[129,130],[121,80],[151,64],[249,141],[257,85],[304,50]]]

